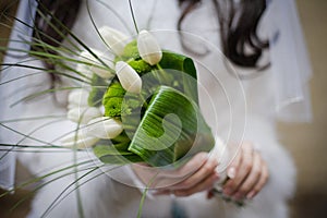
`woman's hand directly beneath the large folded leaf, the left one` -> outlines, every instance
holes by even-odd
[[[133,165],[133,169],[144,184],[157,189],[156,194],[189,196],[213,189],[219,179],[215,171],[218,161],[208,158],[207,153],[198,153],[185,165],[174,170],[162,170],[148,166]]]

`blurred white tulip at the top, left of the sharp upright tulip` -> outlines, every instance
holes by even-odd
[[[99,33],[114,55],[121,56],[123,53],[128,43],[128,36],[114,28],[110,28],[109,26],[100,27]]]

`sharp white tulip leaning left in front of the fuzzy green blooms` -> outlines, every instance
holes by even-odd
[[[116,63],[116,74],[125,90],[135,94],[141,93],[142,80],[136,71],[126,62],[118,61]]]

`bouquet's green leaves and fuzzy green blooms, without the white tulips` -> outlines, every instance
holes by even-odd
[[[144,75],[143,89],[131,94],[117,78],[111,82],[102,98],[105,116],[119,117],[125,132],[111,145],[97,145],[96,156],[105,164],[178,167],[198,152],[209,152],[215,143],[197,106],[192,59],[165,50],[159,64],[150,66],[140,58],[136,40],[119,58]]]

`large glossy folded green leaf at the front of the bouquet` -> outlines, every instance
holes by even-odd
[[[209,152],[214,144],[211,131],[195,101],[174,88],[160,86],[129,150],[152,166],[162,167],[198,152]]]

